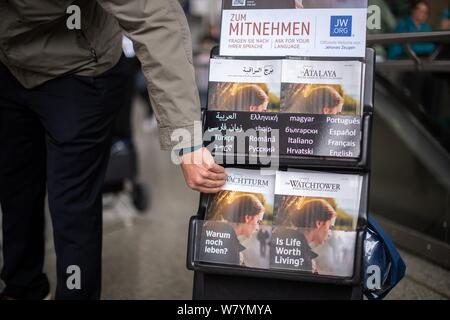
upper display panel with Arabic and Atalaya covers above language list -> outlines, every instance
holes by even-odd
[[[363,77],[355,60],[212,59],[204,140],[216,154],[358,158]]]

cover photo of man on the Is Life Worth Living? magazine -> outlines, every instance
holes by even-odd
[[[357,213],[347,201],[277,195],[275,203],[271,268],[341,277],[352,275]],[[284,241],[281,246],[280,239]],[[300,255],[282,253],[281,249],[290,248],[286,239],[298,244]],[[284,260],[280,259],[280,253]],[[292,264],[295,259],[300,261],[298,265]]]

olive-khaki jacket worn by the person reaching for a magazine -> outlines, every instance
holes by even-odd
[[[67,27],[72,5],[80,9],[81,29]],[[0,62],[26,88],[112,68],[122,53],[122,32],[133,41],[148,80],[162,148],[174,146],[175,129],[193,137],[200,102],[190,31],[177,0],[0,1]],[[186,140],[177,146],[190,146],[192,139]]]

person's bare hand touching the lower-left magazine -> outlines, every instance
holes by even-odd
[[[180,157],[181,170],[189,188],[203,193],[216,193],[225,184],[225,169],[215,163],[206,148]]]

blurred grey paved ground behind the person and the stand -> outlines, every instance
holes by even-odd
[[[142,110],[137,108],[136,118]],[[169,153],[158,151],[157,132],[138,123],[142,180],[150,187],[152,206],[137,214],[122,194],[105,198],[103,253],[104,299],[190,299],[192,272],[185,266],[188,220],[198,195],[185,187]],[[49,231],[50,233],[50,231]],[[450,272],[402,252],[406,278],[388,299],[449,299]],[[55,258],[51,241],[46,270],[54,288]]]

